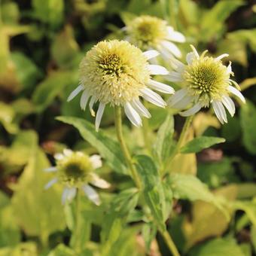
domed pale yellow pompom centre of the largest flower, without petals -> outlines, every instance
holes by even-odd
[[[96,100],[123,105],[138,99],[150,80],[148,62],[139,48],[126,41],[96,44],[80,65],[81,84]]]

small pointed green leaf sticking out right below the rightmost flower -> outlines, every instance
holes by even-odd
[[[187,142],[187,144],[181,148],[180,152],[183,154],[197,153],[202,151],[204,148],[209,148],[212,145],[223,142],[225,142],[224,138],[200,136],[190,142]]]

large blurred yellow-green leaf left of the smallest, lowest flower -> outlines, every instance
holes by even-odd
[[[49,162],[37,144],[32,145],[29,163],[19,178],[12,206],[17,222],[30,236],[47,236],[65,227],[58,187],[44,190],[49,174],[43,170]],[[36,214],[35,214],[36,212]]]

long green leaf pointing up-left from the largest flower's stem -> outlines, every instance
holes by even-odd
[[[87,120],[77,117],[57,117],[57,120],[63,123],[69,123],[78,129],[81,136],[95,147],[99,154],[105,158],[108,165],[114,169],[114,171],[126,174],[126,161],[121,153],[120,146],[117,142],[108,138],[101,130],[97,133],[92,123]]]

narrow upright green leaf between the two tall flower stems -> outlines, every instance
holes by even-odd
[[[166,120],[160,126],[157,132],[156,142],[154,144],[154,155],[159,163],[164,162],[171,151],[173,144],[172,136],[174,133],[174,120],[173,116],[167,115]]]

